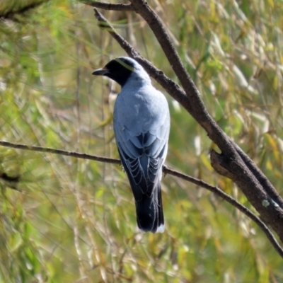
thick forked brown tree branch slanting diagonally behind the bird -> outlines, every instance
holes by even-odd
[[[236,145],[233,141],[229,139],[229,137],[220,129],[209,115],[202,103],[195,84],[187,74],[182,62],[180,62],[180,57],[178,56],[178,53],[168,37],[165,28],[163,28],[163,24],[159,20],[158,16],[156,16],[154,11],[149,8],[148,4],[144,0],[130,1],[136,13],[139,13],[139,15],[144,18],[156,35],[158,42],[173,67],[173,70],[183,84],[185,93],[180,89],[180,86],[176,83],[172,83],[172,81],[168,79],[163,72],[156,69],[152,64],[149,64],[146,59],[141,57],[126,40],[115,32],[110,23],[108,23],[108,21],[95,9],[95,15],[96,18],[98,18],[98,21],[100,21],[100,27],[101,23],[103,23],[104,27],[107,26],[108,32],[115,38],[115,40],[117,40],[127,54],[129,54],[130,57],[137,59],[144,69],[149,72],[149,75],[154,74],[154,79],[156,79],[156,81],[158,81],[158,83],[160,83],[173,98],[178,100],[178,102],[183,105],[188,112],[190,112],[192,117],[194,117],[195,120],[202,125],[208,133],[209,138],[212,139],[212,141],[214,141],[222,151],[222,154],[218,156],[221,158],[216,158],[216,154],[211,156],[213,159],[212,166],[214,169],[217,171],[217,168],[221,167],[225,168],[226,172],[229,172],[229,175],[227,176],[231,178],[238,187],[240,187],[253,207],[255,207],[255,209],[260,213],[262,219],[272,226],[272,229],[275,230],[281,241],[283,241],[282,198],[278,195],[274,188],[274,190],[272,190],[272,185],[270,183],[271,187],[266,187],[266,185],[268,185],[267,182],[260,183],[260,180],[262,179],[258,179],[258,175],[254,175],[254,172],[259,171],[259,169],[256,166],[253,168],[252,161],[249,162],[248,165],[246,164],[246,161],[250,160],[250,158],[246,156],[243,151],[241,151],[241,155],[239,154],[240,151],[236,149]],[[244,160],[246,161],[244,161],[243,158],[245,158]],[[218,162],[219,164],[217,164]],[[223,171],[217,172],[221,174]],[[272,194],[270,194],[270,190],[272,190]],[[274,195],[276,195],[275,200],[277,200],[277,202],[272,198]],[[272,205],[267,207],[262,205],[262,202],[266,201]],[[279,207],[279,205],[282,207]]]

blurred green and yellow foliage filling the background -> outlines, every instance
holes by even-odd
[[[0,13],[39,1],[0,1]],[[114,3],[114,2],[112,2]],[[209,112],[282,193],[283,2],[149,1]],[[135,13],[103,11],[177,81]],[[93,10],[45,1],[0,22],[0,139],[117,158],[119,86],[91,75],[125,55]],[[155,83],[155,82],[154,82]],[[158,87],[156,85],[156,87]],[[109,95],[110,93],[110,95]],[[171,97],[167,165],[218,185],[207,134]],[[282,258],[246,216],[183,180],[163,178],[166,231],[137,231],[119,166],[0,147],[0,282],[282,282]],[[9,178],[4,178],[8,176]]]

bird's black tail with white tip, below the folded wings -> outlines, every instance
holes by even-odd
[[[144,194],[136,202],[137,224],[144,232],[162,233],[164,231],[164,217],[161,198],[161,184],[158,183],[149,197]]]

